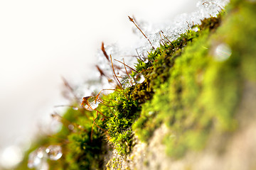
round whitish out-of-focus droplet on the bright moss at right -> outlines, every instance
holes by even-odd
[[[231,54],[232,50],[230,49],[229,45],[222,43],[215,47],[214,59],[218,62],[223,62],[225,60],[228,60]]]

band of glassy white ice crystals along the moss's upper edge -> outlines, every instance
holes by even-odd
[[[166,40],[164,36],[168,38],[168,40],[173,41],[176,40],[182,33],[186,33],[186,30],[188,29],[198,31],[198,28],[195,27],[196,24],[200,24],[201,20],[204,18],[216,16],[218,13],[220,13],[220,11],[223,10],[228,2],[229,0],[199,0],[197,3],[197,11],[192,13],[183,13],[176,16],[176,18],[174,18],[172,21],[166,21],[166,23],[161,24],[158,23],[157,25],[153,25],[145,21],[139,21],[135,18],[134,21],[143,30],[147,38],[149,38],[149,40],[152,42],[153,47],[156,48],[159,47],[162,40]],[[108,56],[112,56],[113,67],[117,77],[124,77],[124,75],[127,74],[124,69],[124,64],[120,63],[123,61],[123,58],[125,64],[129,65],[130,67],[134,67],[134,63],[137,62],[137,58],[143,60],[144,62],[148,62],[147,55],[148,52],[151,51],[152,46],[136,27],[133,28],[133,32],[139,35],[141,40],[136,42],[136,45],[131,47],[129,50],[125,51],[117,44],[103,45],[106,54]],[[117,81],[113,76],[110,59],[107,59],[102,50],[97,51],[97,66],[101,69],[104,75],[96,74],[93,77],[93,80],[97,80],[97,82],[95,81],[95,83],[85,85],[87,86],[86,88],[81,87],[79,89],[81,94],[85,94],[87,91],[92,93],[92,91],[100,91],[101,89],[113,89],[115,86],[117,86]],[[96,69],[95,72],[97,72]],[[122,81],[128,82],[127,79]],[[127,85],[129,84],[126,84],[125,86]],[[90,94],[87,94],[87,96],[88,95]]]

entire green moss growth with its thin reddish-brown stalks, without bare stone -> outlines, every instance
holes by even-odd
[[[255,43],[255,23],[240,18],[256,17],[254,9],[249,1],[233,1],[228,11],[205,18],[200,25],[188,24],[186,33],[175,40],[160,31],[157,48],[134,18],[129,17],[149,41],[151,50],[146,56],[138,53],[134,68],[127,60],[114,59],[102,42],[102,55],[111,74],[100,64],[97,70],[100,79],[107,79],[114,87],[102,88],[80,101],[74,88],[65,81],[75,96],[70,102],[72,107],[63,116],[53,114],[63,126],[31,147],[28,166],[117,169],[121,159],[113,158],[106,167],[106,155],[114,150],[128,157],[137,145],[137,138],[149,143],[161,125],[168,130],[159,140],[164,142],[172,159],[201,151],[212,133],[221,136],[234,132],[238,125],[235,111],[240,101],[240,86],[245,79],[255,81],[256,77],[252,72],[256,68],[252,57],[255,49],[245,43],[250,36],[250,42]],[[112,93],[105,94],[107,91]],[[60,157],[58,161],[50,159],[50,146],[61,150],[61,156],[60,152],[55,154]],[[28,160],[28,154],[24,160]],[[26,161],[22,165],[26,166]],[[31,162],[40,164],[32,166]]]

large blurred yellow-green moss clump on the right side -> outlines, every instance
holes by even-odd
[[[181,158],[188,150],[203,149],[211,132],[235,130],[243,82],[255,81],[256,67],[256,23],[250,20],[256,16],[255,4],[238,4],[229,8],[232,14],[221,19],[221,26],[220,16],[202,21],[200,35],[176,58],[169,80],[142,106],[142,116],[133,126],[141,140],[149,141],[154,129],[166,123],[167,153]],[[216,59],[218,45],[226,45],[224,52],[232,55]]]

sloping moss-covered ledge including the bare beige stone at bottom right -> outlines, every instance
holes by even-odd
[[[162,42],[135,66],[144,82],[101,96],[98,115],[68,109],[17,169],[48,145],[63,148],[49,169],[255,169],[254,18],[255,1],[233,0],[198,31]]]

